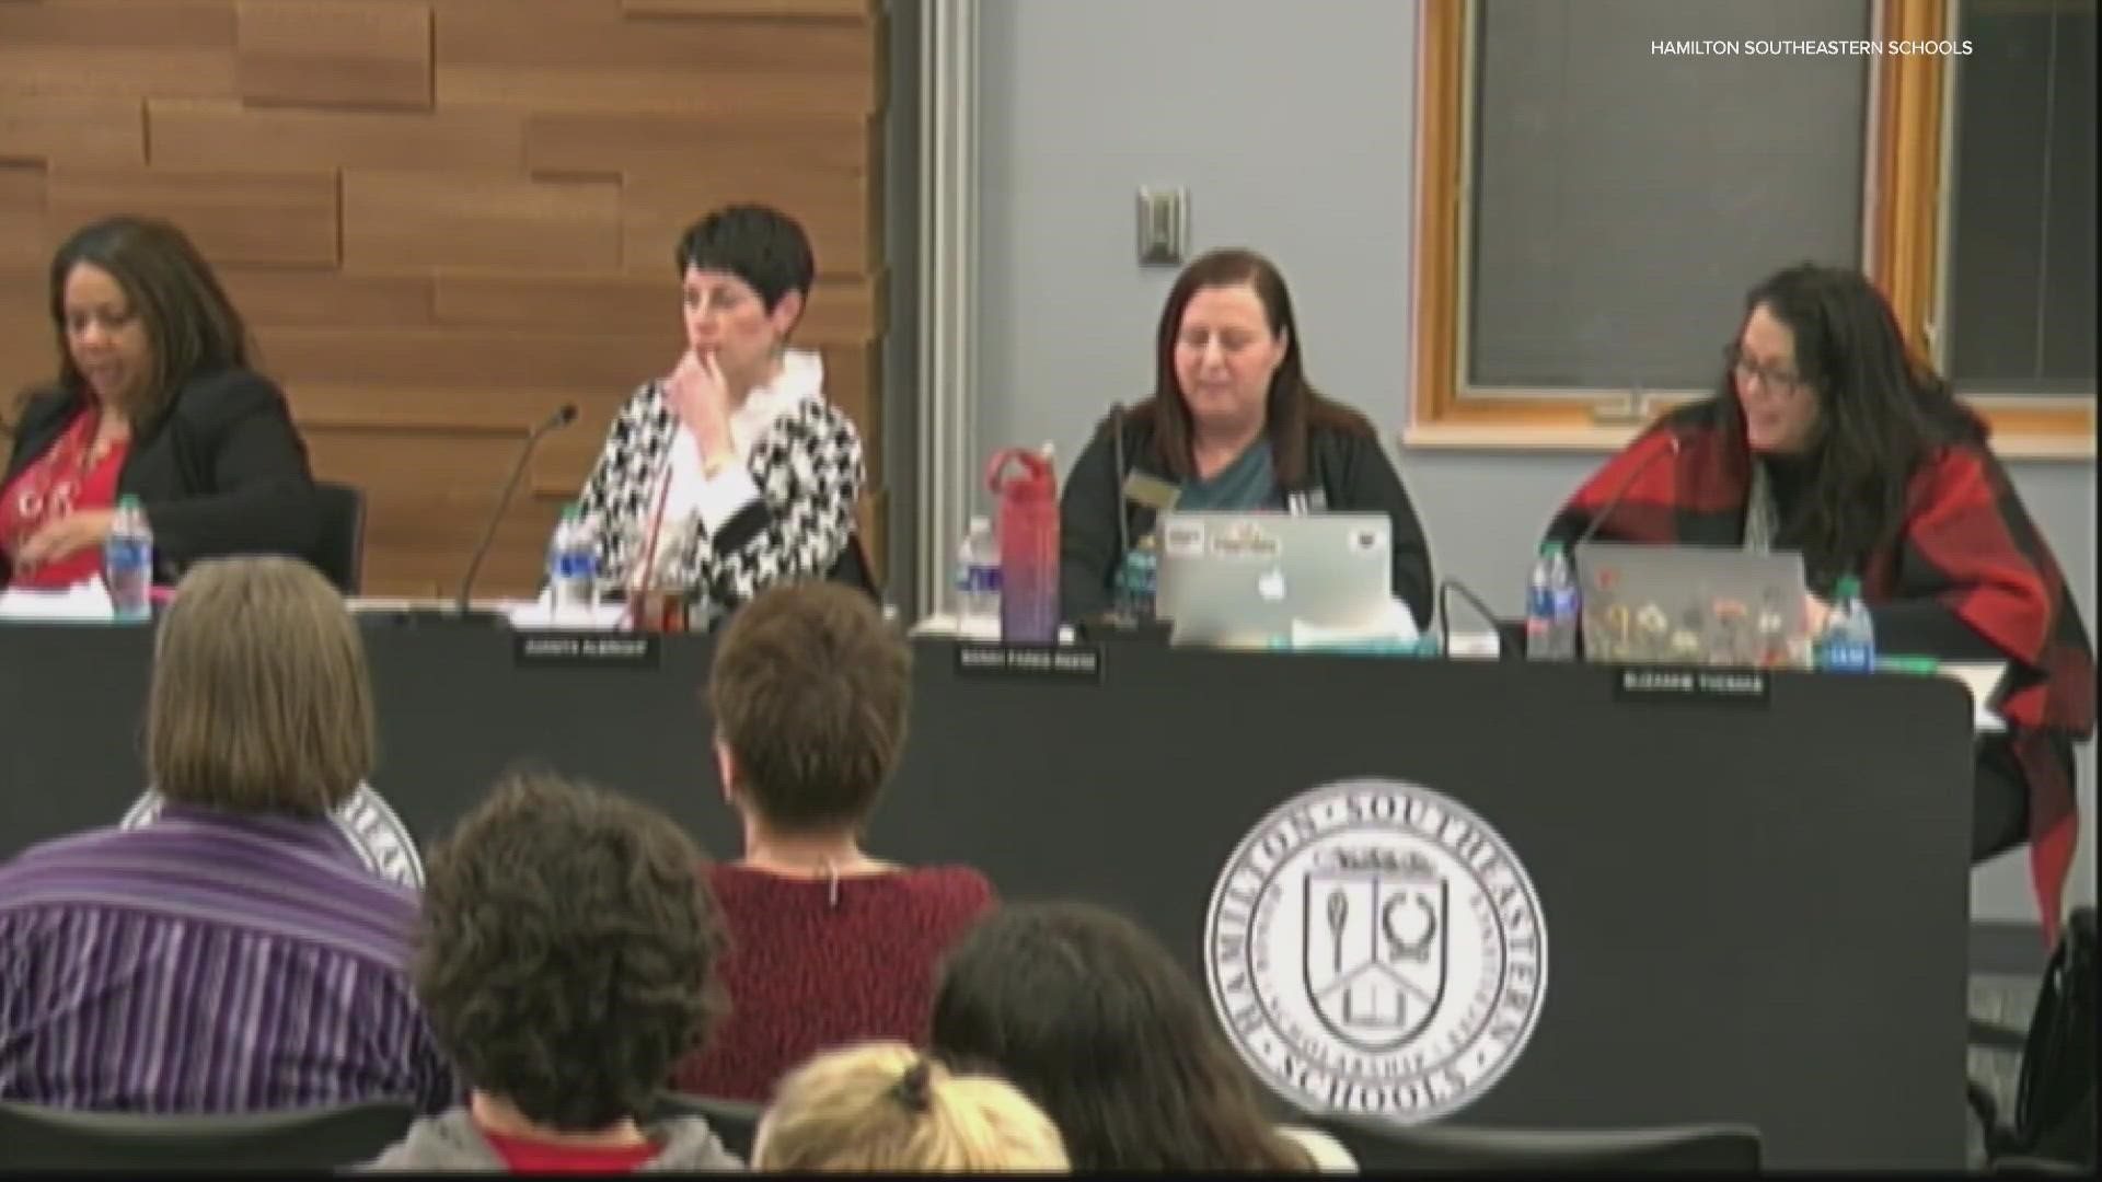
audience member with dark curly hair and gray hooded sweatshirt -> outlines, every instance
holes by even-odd
[[[431,854],[416,991],[469,1100],[366,1169],[742,1169],[700,1117],[647,1121],[723,1012],[721,917],[664,814],[515,772]]]

